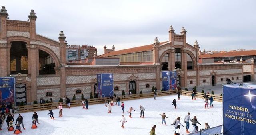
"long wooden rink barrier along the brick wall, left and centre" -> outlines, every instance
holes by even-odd
[[[176,94],[177,90],[168,90],[168,91],[160,91],[156,92],[157,96],[167,96],[167,95],[174,95]],[[143,93],[143,94],[132,94],[132,95],[124,95],[119,96],[121,101],[125,100],[134,100],[134,99],[141,99],[141,98],[150,98],[153,97],[154,93]],[[93,98],[87,99],[89,101],[89,106],[93,104],[102,104],[105,103],[105,98]],[[82,100],[73,100],[70,101],[70,106],[82,106]],[[60,103],[63,102],[52,102],[52,103],[44,103],[44,104],[33,104],[33,105],[26,105],[26,106],[18,106],[19,112],[35,112],[41,110],[49,110],[49,109],[57,109]],[[63,108],[66,108],[66,104],[63,105]]]

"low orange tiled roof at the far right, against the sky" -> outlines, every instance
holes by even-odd
[[[234,52],[213,53],[213,54],[202,54],[202,55],[199,56],[199,59],[200,58],[215,58],[215,57],[250,56],[250,55],[256,55],[256,50],[234,51]]]

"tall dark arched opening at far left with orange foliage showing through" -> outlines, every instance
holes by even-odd
[[[28,74],[28,49],[26,42],[12,41],[10,48],[11,74]]]

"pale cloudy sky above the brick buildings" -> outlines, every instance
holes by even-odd
[[[36,33],[68,45],[115,50],[168,41],[168,29],[186,28],[187,43],[200,49],[256,49],[255,0],[2,0],[10,20],[36,13]]]

